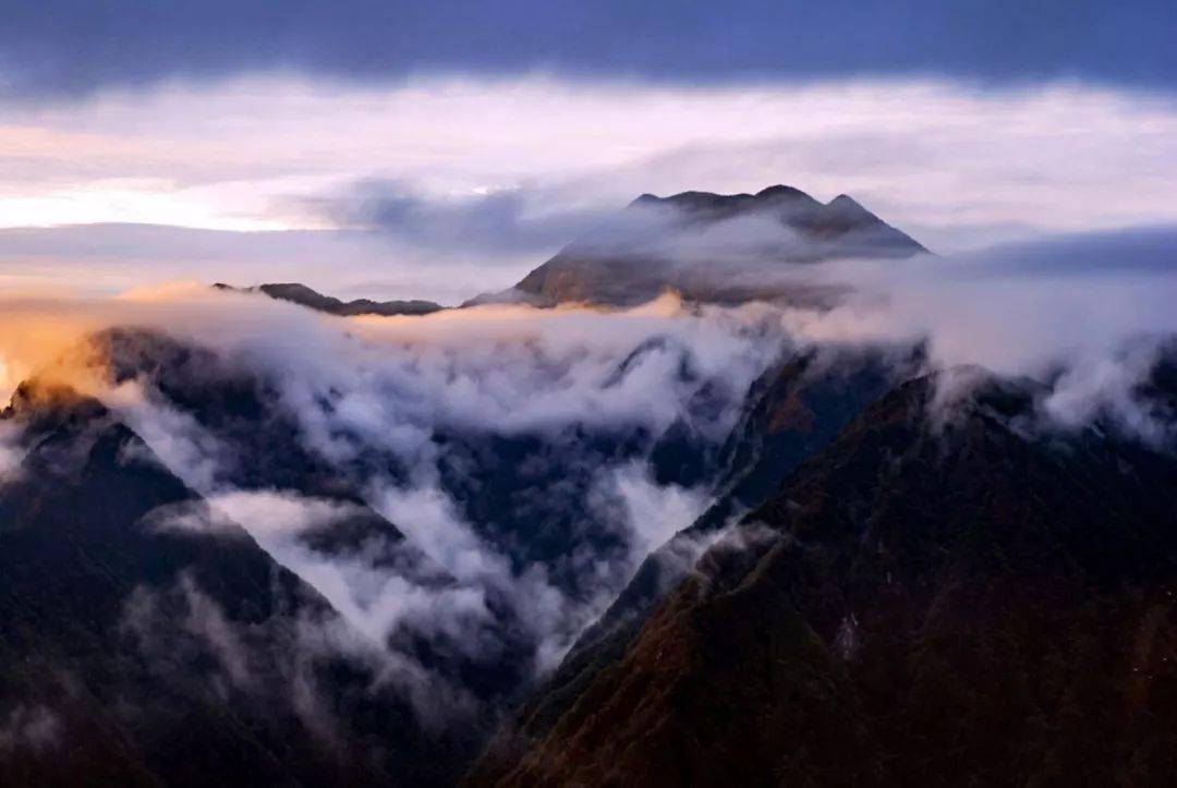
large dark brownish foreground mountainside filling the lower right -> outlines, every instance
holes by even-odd
[[[712,548],[530,751],[468,784],[1158,784],[1177,462],[883,397]],[[1171,399],[1172,392],[1163,398]]]

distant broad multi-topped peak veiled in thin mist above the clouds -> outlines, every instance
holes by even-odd
[[[777,274],[797,264],[927,251],[846,194],[826,204],[784,184],[754,194],[645,193],[623,213],[492,298],[621,306],[670,287],[689,300],[824,304],[827,289],[806,291],[796,282],[782,284]],[[753,221],[732,221],[744,219]]]

